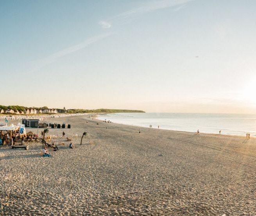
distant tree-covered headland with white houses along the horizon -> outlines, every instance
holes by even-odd
[[[56,114],[56,113],[114,113],[114,112],[145,112],[131,109],[55,109],[48,107],[24,107],[18,105],[4,106],[0,105],[0,114]]]

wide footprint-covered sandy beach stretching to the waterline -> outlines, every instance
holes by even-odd
[[[49,129],[60,149],[51,157],[40,143],[0,147],[0,215],[256,215],[256,139],[54,122],[72,128]]]

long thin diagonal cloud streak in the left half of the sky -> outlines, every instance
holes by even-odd
[[[68,54],[72,54],[73,52],[76,52],[76,51],[81,50],[83,48],[86,48],[86,46],[89,46],[92,43],[95,43],[97,41],[100,41],[101,39],[104,39],[105,37],[108,37],[111,34],[113,34],[113,33],[109,32],[109,33],[106,33],[106,34],[101,34],[101,35],[98,35],[98,36],[89,37],[89,38],[85,39],[84,41],[82,41],[81,43],[79,43],[77,45],[70,46],[70,47],[65,48],[63,50],[60,50],[59,52],[55,52],[54,54],[49,55],[48,57],[45,57],[43,59],[39,59],[37,61],[31,62],[30,70],[28,70],[25,73],[30,74],[30,73],[33,73],[34,71],[40,70],[41,68],[57,61],[59,58],[65,56],[65,55],[68,55]]]

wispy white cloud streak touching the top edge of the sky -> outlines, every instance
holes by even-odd
[[[138,7],[138,8],[129,10],[129,11],[122,12],[122,13],[118,14],[116,17],[136,16],[139,14],[156,11],[159,9],[165,9],[168,7],[182,5],[182,4],[185,4],[190,1],[193,1],[193,0],[162,0],[162,1],[150,2],[149,4],[144,5],[142,7]]]

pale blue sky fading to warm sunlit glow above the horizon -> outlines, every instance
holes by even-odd
[[[256,114],[255,0],[0,0],[0,104]]]

